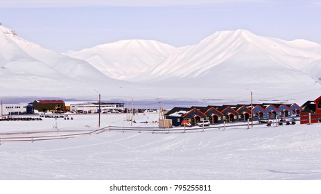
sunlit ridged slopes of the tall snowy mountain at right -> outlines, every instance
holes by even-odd
[[[319,67],[320,59],[321,46],[313,42],[304,40],[286,42],[281,39],[260,37],[247,30],[223,31],[203,39],[200,44],[182,53],[171,55],[131,80],[142,82],[177,78],[184,80],[214,78],[214,80],[224,80],[226,83],[234,82],[234,79],[225,79],[231,74],[238,77],[238,82],[248,82],[248,76],[261,77],[267,76],[268,73],[270,77],[274,76],[280,82],[287,79],[282,76],[284,74],[292,75],[290,77],[293,77],[294,81],[313,82],[311,73],[315,72],[313,67]],[[321,77],[320,74],[316,74],[313,77]],[[260,83],[275,78],[261,80]],[[209,80],[205,80],[207,81]]]

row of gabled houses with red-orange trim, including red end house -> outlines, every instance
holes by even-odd
[[[304,103],[299,106],[293,104],[254,104],[254,105],[209,105],[207,107],[174,107],[164,116],[166,119],[171,119],[173,126],[182,125],[188,121],[196,125],[202,120],[209,120],[212,124],[229,123],[235,121],[259,119],[275,119],[275,118],[290,118],[301,116],[301,123],[316,123],[321,119],[321,96],[314,100]],[[306,118],[306,116],[309,117]]]

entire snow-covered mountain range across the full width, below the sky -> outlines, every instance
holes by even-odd
[[[251,89],[296,100],[320,96],[320,80],[321,46],[304,39],[231,30],[181,48],[132,39],[62,55],[0,26],[1,96],[225,99]]]

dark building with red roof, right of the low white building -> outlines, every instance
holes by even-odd
[[[65,110],[64,100],[35,100],[33,107],[39,112],[62,111]]]

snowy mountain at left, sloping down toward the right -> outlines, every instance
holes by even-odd
[[[116,87],[123,82],[108,78],[88,62],[42,48],[0,26],[1,96],[69,96],[106,85]]]

